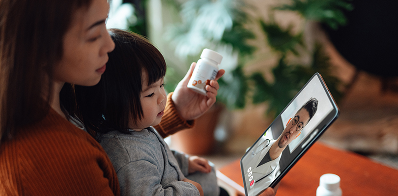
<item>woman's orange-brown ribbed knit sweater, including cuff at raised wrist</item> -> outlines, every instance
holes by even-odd
[[[182,120],[168,96],[163,136],[192,124]],[[54,110],[21,127],[0,144],[0,196],[119,196],[111,161],[88,133]]]

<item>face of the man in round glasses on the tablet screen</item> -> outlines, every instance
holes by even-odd
[[[304,126],[310,121],[310,114],[304,108],[300,109],[294,117],[287,123],[286,128],[279,137],[278,146],[284,148],[301,133]]]

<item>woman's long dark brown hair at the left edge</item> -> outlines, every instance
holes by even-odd
[[[0,139],[49,111],[72,15],[92,0],[0,0]]]

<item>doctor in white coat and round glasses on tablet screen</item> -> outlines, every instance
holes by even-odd
[[[286,128],[277,140],[269,140],[262,136],[258,145],[252,149],[253,158],[248,164],[249,168],[245,168],[245,183],[249,196],[259,194],[275,179],[284,148],[300,135],[315,114],[317,106],[318,100],[311,98],[288,120]]]

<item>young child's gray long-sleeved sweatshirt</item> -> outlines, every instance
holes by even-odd
[[[153,127],[123,134],[99,136],[112,161],[121,196],[199,196],[198,189],[183,182],[188,156],[172,152]]]

